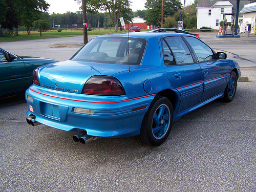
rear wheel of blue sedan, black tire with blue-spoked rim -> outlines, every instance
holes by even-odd
[[[173,119],[172,103],[166,97],[156,96],[142,121],[140,132],[142,142],[155,146],[162,144],[169,136]]]

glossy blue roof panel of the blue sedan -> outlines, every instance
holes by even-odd
[[[157,38],[162,38],[162,37],[166,37],[166,36],[191,36],[191,37],[195,37],[194,35],[190,35],[190,34],[185,34],[185,33],[159,33],[159,32],[138,32],[138,33],[113,33],[113,34],[107,34],[107,35],[102,35],[102,36],[98,36],[98,37],[111,37],[111,36],[115,36],[115,37],[139,37],[139,38],[151,38],[153,36],[157,37]],[[97,38],[97,37],[96,37]]]

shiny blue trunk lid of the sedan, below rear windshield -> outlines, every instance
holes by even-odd
[[[135,69],[140,66],[130,66]],[[116,65],[107,63],[91,63],[81,61],[62,61],[44,67],[38,71],[38,80],[41,87],[81,93],[84,83],[94,75],[108,75],[128,71],[127,65]]]

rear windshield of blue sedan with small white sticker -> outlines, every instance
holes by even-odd
[[[99,37],[88,42],[71,60],[140,65],[146,40],[128,37]]]

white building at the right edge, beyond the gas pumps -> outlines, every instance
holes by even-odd
[[[253,33],[256,25],[256,2],[245,5],[240,13],[243,14],[243,23],[240,26],[240,32],[250,31]]]

